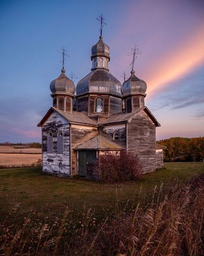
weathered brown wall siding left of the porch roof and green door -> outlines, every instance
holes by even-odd
[[[97,127],[85,125],[71,125],[71,175],[77,175],[77,156],[73,149],[84,141],[97,136]]]

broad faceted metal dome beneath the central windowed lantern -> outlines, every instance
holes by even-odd
[[[121,96],[121,83],[108,70],[95,69],[77,83],[77,95],[88,92]]]

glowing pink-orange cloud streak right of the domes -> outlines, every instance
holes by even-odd
[[[148,73],[145,72],[148,96],[154,96],[167,83],[183,77],[204,62],[204,24],[189,36],[186,42],[173,48]]]

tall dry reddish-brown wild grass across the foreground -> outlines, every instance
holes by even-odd
[[[141,197],[142,198],[142,197]],[[25,217],[21,228],[7,225],[16,208],[0,226],[0,254],[20,256],[201,256],[204,255],[204,174],[185,183],[155,187],[147,204],[140,197],[96,226],[92,210],[83,214],[80,227],[64,216],[49,221]]]

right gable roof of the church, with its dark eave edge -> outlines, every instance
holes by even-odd
[[[109,124],[117,124],[117,123],[130,123],[132,118],[137,115],[140,111],[144,110],[145,113],[151,118],[152,122],[155,123],[156,127],[161,126],[154,115],[151,114],[150,110],[147,107],[142,107],[138,111],[125,113],[120,112],[115,115],[111,115],[111,117],[105,119],[100,122],[99,126],[109,125]]]

